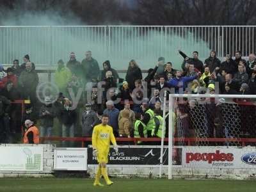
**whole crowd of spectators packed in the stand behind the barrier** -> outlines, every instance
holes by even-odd
[[[58,99],[52,100],[49,94],[43,102],[36,95],[38,74],[28,54],[21,65],[19,60],[14,60],[13,66],[4,70],[0,64],[0,142],[12,142],[10,135],[19,130],[20,122],[26,129],[26,120],[39,126],[41,137],[52,136],[54,127],[59,129],[58,136],[91,137],[102,114],[109,116],[109,125],[116,137],[161,137],[163,90],[168,93],[256,94],[254,54],[245,61],[241,52],[236,51],[234,59],[227,54],[222,63],[215,51],[211,51],[204,62],[197,51],[191,58],[180,50],[179,54],[184,58],[179,70],[173,68],[172,62],[159,57],[155,67],[149,68],[143,78],[138,63],[131,60],[122,79],[109,60],[102,63],[100,70],[91,51],[86,51],[81,62],[76,60],[75,52],[70,52],[67,64],[59,60],[56,66],[54,83],[58,86]],[[74,100],[76,95],[81,96],[79,100]],[[19,106],[12,104],[20,99],[30,101],[23,115]],[[182,118],[186,110],[178,109],[176,115]],[[54,119],[58,120],[58,126],[54,126]],[[189,136],[186,124],[183,132],[183,136]],[[216,136],[213,132],[208,136]],[[164,134],[168,136],[168,129]],[[63,141],[63,145],[67,143]]]

